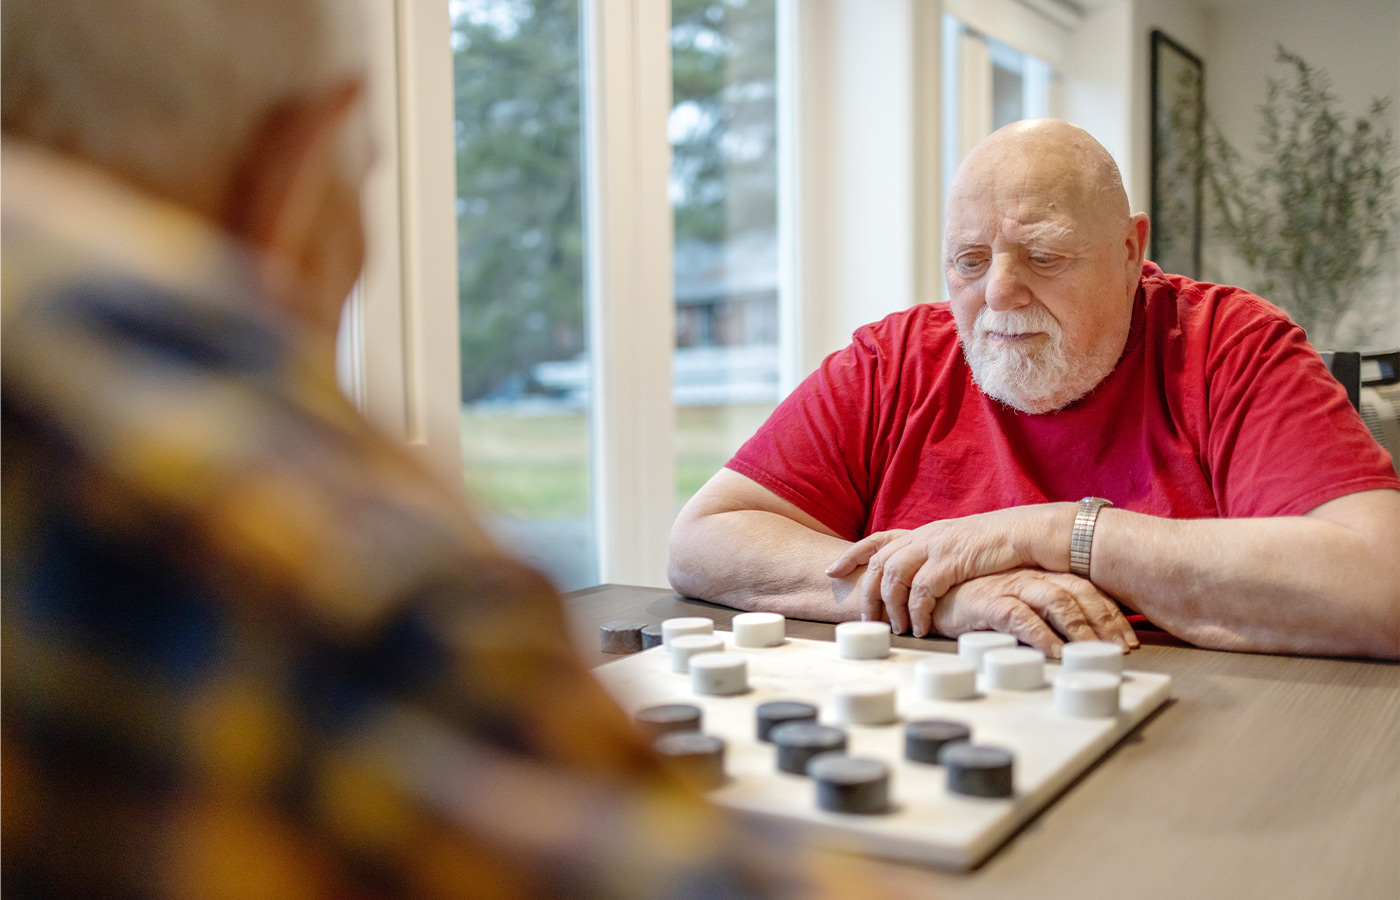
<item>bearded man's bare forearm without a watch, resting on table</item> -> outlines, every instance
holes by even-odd
[[[826,567],[850,542],[759,509],[736,509],[678,521],[671,537],[671,585],[736,609],[764,609],[794,619],[860,619],[848,599],[864,567],[829,578]]]

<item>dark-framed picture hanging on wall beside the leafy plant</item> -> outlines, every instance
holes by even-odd
[[[1201,277],[1205,77],[1201,57],[1152,31],[1152,238],[1165,272]]]

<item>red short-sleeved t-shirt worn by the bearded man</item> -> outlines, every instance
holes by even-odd
[[[921,304],[857,330],[728,466],[847,540],[1086,495],[1240,518],[1400,488],[1302,329],[1247,291],[1152,263],[1123,358],[1060,412],[986,396],[948,305]]]

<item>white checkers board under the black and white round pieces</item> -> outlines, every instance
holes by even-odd
[[[969,700],[918,696],[914,666],[920,659],[952,658],[938,651],[896,647],[885,659],[841,659],[829,641],[787,638],[778,647],[735,647],[727,654],[748,659],[749,691],[734,697],[696,694],[690,677],[671,670],[661,647],[595,669],[599,680],[629,711],[661,703],[690,703],[704,711],[704,733],[724,738],[728,781],[710,792],[725,806],[785,820],[813,843],[875,857],[969,869],[991,855],[1016,829],[1047,806],[1071,781],[1107,753],[1170,697],[1172,679],[1124,672],[1120,711],[1112,718],[1077,718],[1054,710],[1051,684],[1060,666],[1046,663],[1046,683],[1036,690],[988,690]],[[832,689],[853,680],[895,683],[899,719],[893,725],[841,725],[833,718]],[[819,721],[846,729],[850,756],[869,756],[890,766],[893,809],[883,815],[843,815],[816,805],[816,785],[780,771],[776,747],[755,735],[755,708],[770,700],[801,700],[820,710]],[[987,799],[949,794],[941,766],[904,759],[904,722],[953,719],[972,728],[976,745],[1000,746],[1015,757],[1015,796]]]

